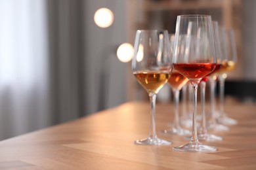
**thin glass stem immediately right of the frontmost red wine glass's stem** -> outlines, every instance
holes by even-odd
[[[201,89],[201,105],[202,105],[202,134],[207,133],[206,122],[205,122],[205,85],[206,82],[200,82]]]

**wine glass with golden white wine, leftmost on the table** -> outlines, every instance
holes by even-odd
[[[172,55],[167,30],[137,30],[132,60],[133,75],[150,97],[150,133],[135,144],[166,145],[170,141],[156,135],[156,94],[167,82],[172,69]]]

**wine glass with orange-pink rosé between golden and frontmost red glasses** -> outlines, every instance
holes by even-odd
[[[185,41],[186,37],[182,37]],[[170,42],[171,42],[171,52],[173,52],[173,44],[174,44],[175,35],[171,34]],[[181,88],[186,85],[188,82],[188,78],[186,76],[181,75],[178,71],[173,70],[171,72],[170,78],[168,79],[168,84],[171,86],[171,90],[173,92],[173,99],[175,105],[175,115],[172,127],[170,129],[163,130],[163,133],[167,134],[176,134],[176,135],[188,135],[191,134],[190,131],[183,129],[181,127],[181,123],[179,120],[179,96]]]

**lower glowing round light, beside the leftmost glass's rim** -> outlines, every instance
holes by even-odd
[[[127,63],[133,58],[133,46],[129,43],[123,43],[117,48],[117,58]]]

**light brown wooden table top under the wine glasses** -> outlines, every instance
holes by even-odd
[[[161,135],[169,146],[139,146],[148,137],[148,102],[125,103],[114,109],[0,142],[0,169],[256,169],[256,106],[229,102],[226,111],[239,124],[215,133],[217,152],[175,152],[188,141]],[[165,129],[173,106],[156,106],[156,127]]]

